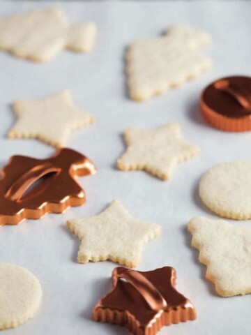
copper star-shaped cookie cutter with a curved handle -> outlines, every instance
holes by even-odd
[[[116,267],[113,290],[93,309],[93,320],[126,326],[134,335],[155,335],[164,325],[195,320],[190,301],[175,289],[176,271]]]

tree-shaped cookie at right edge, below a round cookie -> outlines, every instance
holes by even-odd
[[[207,266],[206,278],[215,284],[218,295],[250,294],[251,227],[195,217],[188,230],[192,246],[199,250],[199,261]]]

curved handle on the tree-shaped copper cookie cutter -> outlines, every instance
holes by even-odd
[[[18,178],[12,186],[10,186],[5,194],[5,198],[12,201],[20,200],[29,186],[51,172],[59,173],[61,172],[61,168],[56,168],[50,163],[40,164],[31,168],[31,170],[22,174],[22,176]]]

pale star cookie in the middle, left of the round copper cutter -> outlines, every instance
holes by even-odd
[[[195,145],[185,142],[179,124],[171,123],[153,130],[129,128],[124,132],[126,153],[119,158],[121,170],[145,170],[167,180],[177,163],[199,152]]]

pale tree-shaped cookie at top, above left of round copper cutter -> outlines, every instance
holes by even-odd
[[[204,31],[174,26],[164,36],[132,43],[126,54],[130,98],[144,101],[208,70],[211,61],[200,47],[210,42]]]

